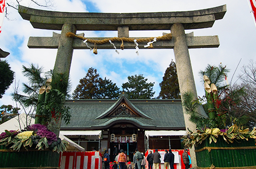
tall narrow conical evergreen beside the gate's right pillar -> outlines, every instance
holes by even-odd
[[[169,67],[167,67],[163,81],[159,83],[161,91],[157,98],[162,99],[179,99],[180,98],[180,88],[178,82],[178,75],[176,70],[176,64],[171,61]]]

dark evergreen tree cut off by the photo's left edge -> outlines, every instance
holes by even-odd
[[[7,61],[0,61],[0,74],[0,98],[2,98],[14,79],[14,72]]]

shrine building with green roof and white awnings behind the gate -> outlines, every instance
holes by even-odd
[[[132,159],[135,148],[183,149],[181,136],[186,134],[181,99],[67,100],[71,121],[62,122],[60,133],[87,151],[108,150],[114,145]]]

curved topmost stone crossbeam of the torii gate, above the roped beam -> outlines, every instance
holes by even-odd
[[[210,28],[215,20],[222,19],[226,5],[210,9],[185,12],[154,13],[74,13],[31,9],[19,5],[23,19],[34,28],[61,30],[63,24],[71,23],[77,30],[114,30],[129,27],[129,30],[170,30],[174,23],[182,23],[184,29]]]

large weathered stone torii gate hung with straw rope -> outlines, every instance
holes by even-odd
[[[193,33],[185,34],[185,29],[202,29],[213,26],[215,20],[222,19],[226,5],[211,9],[186,12],[155,13],[74,13],[35,10],[19,6],[23,19],[29,20],[34,28],[61,30],[52,37],[30,37],[29,48],[58,48],[54,71],[57,73],[70,70],[73,49],[87,49],[83,40],[66,36],[67,32],[77,30],[110,30],[118,31],[118,37],[129,37],[129,30],[171,30],[172,39],[156,41],[154,48],[174,49],[180,92],[191,91],[197,97],[194,75],[190,63],[189,48],[213,48],[219,46],[218,36],[194,37]],[[105,38],[91,38],[102,40]],[[138,37],[135,39],[139,39]],[[139,48],[144,48],[139,44]],[[115,46],[121,42],[115,41]],[[125,49],[134,49],[133,43],[124,42]],[[110,44],[97,45],[98,49],[113,49]],[[183,112],[184,109],[183,109]],[[195,129],[189,115],[184,114],[186,129]],[[190,151],[193,166],[196,166],[195,153]],[[194,158],[194,160],[193,160]]]

